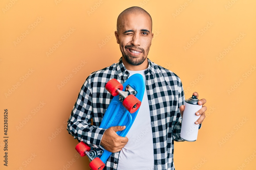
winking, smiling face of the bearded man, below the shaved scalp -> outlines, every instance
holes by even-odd
[[[117,43],[125,60],[138,66],[147,58],[153,38],[150,17],[146,14],[127,14],[121,23],[119,32],[115,31]]]

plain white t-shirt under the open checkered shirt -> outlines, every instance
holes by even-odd
[[[129,77],[139,73],[146,81],[144,70],[129,73]],[[126,137],[129,141],[120,151],[117,169],[154,170],[153,135],[146,88],[138,114]]]

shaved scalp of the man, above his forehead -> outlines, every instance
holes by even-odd
[[[119,33],[120,29],[123,27],[123,25],[125,23],[125,21],[123,20],[123,17],[126,16],[126,15],[129,15],[129,14],[146,14],[150,19],[151,32],[152,32],[152,18],[151,18],[151,16],[143,8],[133,6],[133,7],[125,9],[123,12],[121,12],[121,14],[119,14],[119,16],[117,18],[117,23],[116,23],[116,30],[117,30],[118,33]]]

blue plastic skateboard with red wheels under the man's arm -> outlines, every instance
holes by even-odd
[[[116,132],[119,136],[125,137],[140,108],[145,91],[145,80],[141,74],[134,74],[123,85],[116,79],[111,79],[105,88],[114,97],[103,116],[100,128],[126,126],[124,130]],[[112,154],[100,148],[90,148],[84,142],[78,143],[76,150],[81,156],[88,156],[92,170],[103,169],[104,163]]]

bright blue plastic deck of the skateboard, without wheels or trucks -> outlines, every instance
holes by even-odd
[[[142,101],[145,91],[145,80],[141,74],[133,74],[123,84],[123,91],[127,85],[132,86],[137,91],[136,97]],[[100,124],[100,128],[109,128],[111,126],[126,126],[124,130],[116,132],[119,136],[125,137],[130,130],[138,110],[134,113],[130,113],[125,109],[123,103],[118,100],[119,95],[114,96],[111,100]],[[116,109],[117,108],[117,109]],[[100,159],[106,163],[112,152],[103,150],[104,153]]]

